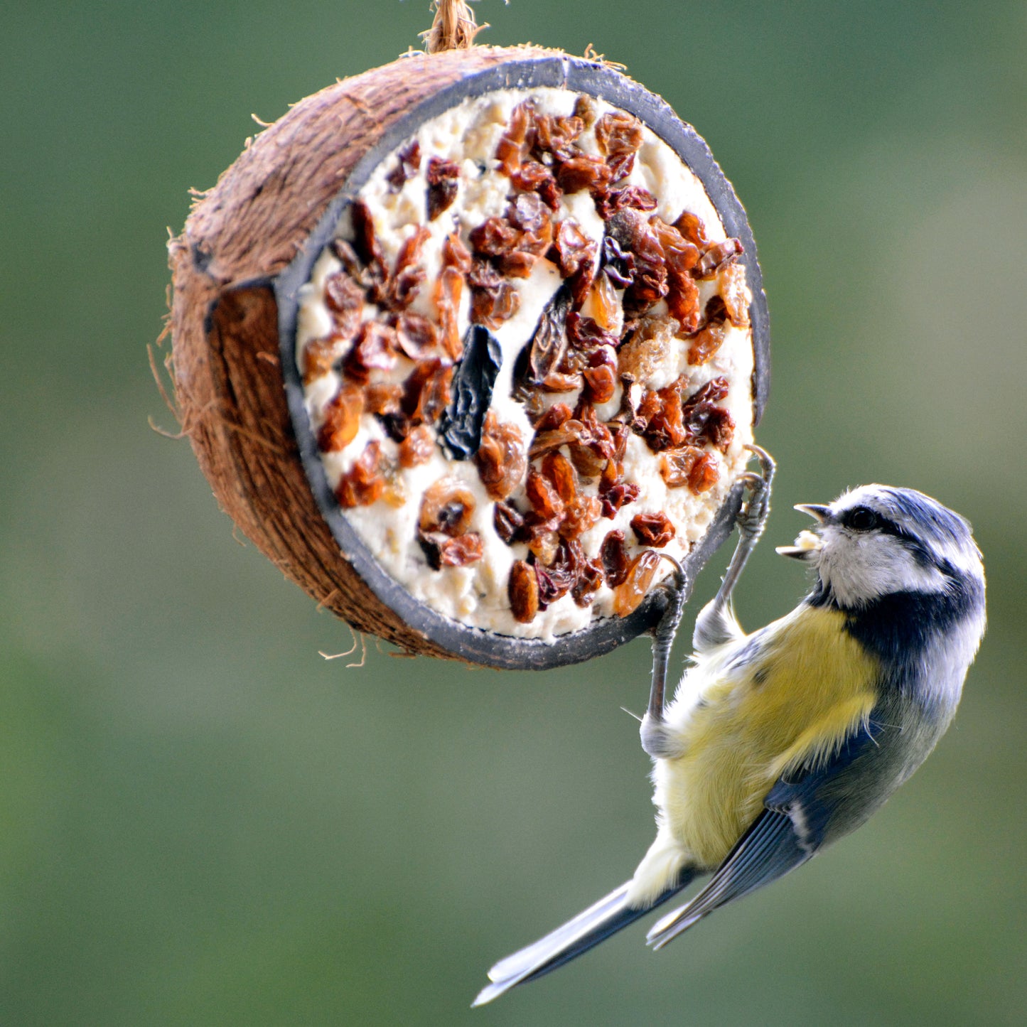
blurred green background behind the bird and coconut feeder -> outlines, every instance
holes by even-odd
[[[147,368],[165,226],[427,0],[15,0],[0,33],[0,1022],[1014,1024],[1025,959],[1027,5],[488,0],[489,43],[621,61],[747,204],[773,324],[772,546],[868,481],[974,522],[990,631],[865,829],[653,955],[494,1006],[493,959],[648,845],[638,641],[542,675],[326,662],[344,625],[233,540]],[[712,594],[722,555],[700,580]],[[683,633],[687,635],[688,632]],[[685,651],[684,639],[679,642]]]

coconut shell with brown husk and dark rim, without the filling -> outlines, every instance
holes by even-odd
[[[769,333],[756,248],[709,148],[671,108],[608,65],[535,47],[417,54],[297,104],[261,132],[195,204],[169,244],[174,378],[182,426],[218,501],[319,605],[409,652],[544,669],[608,652],[646,631],[658,591],[625,617],[554,641],[467,627],[386,574],[330,487],[297,371],[298,295],[339,218],[374,169],[419,125],[468,98],[555,86],[637,116],[702,183],[744,246],[752,292],[754,423],[766,400]],[[687,558],[689,580],[729,535],[740,486]]]

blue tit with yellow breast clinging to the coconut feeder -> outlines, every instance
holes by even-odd
[[[929,496],[882,485],[800,505],[815,531],[777,551],[815,569],[812,589],[747,635],[731,594],[763,531],[774,470],[753,450],[761,471],[746,476],[737,547],[665,706],[680,567],[653,632],[641,735],[653,760],[656,839],[630,881],[496,963],[476,1005],[574,959],[705,873],[705,887],[649,931],[654,949],[795,870],[878,809],[955,714],[985,627],[969,524]]]

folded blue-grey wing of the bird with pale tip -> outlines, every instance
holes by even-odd
[[[885,730],[872,718],[841,745],[826,764],[800,767],[779,777],[764,810],[687,905],[658,920],[647,941],[661,949],[709,913],[801,867],[824,843],[832,816],[847,790],[847,771],[878,747]]]

